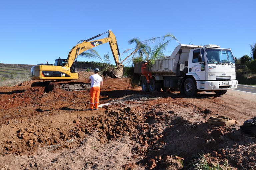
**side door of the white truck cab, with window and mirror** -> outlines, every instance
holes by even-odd
[[[197,76],[200,78],[200,80],[205,80],[205,64],[200,64],[198,62],[198,54],[202,54],[202,62],[205,61],[204,59],[204,49],[197,49],[193,51],[193,59],[192,59],[192,64],[191,64],[191,72],[196,73]]]

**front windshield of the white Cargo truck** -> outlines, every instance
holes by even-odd
[[[231,63],[234,64],[234,57],[230,50],[206,48],[208,63]]]

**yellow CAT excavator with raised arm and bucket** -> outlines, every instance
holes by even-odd
[[[108,33],[108,37],[93,40],[103,34]],[[93,40],[93,41],[91,41]],[[101,44],[109,42],[112,54],[114,56],[114,60],[116,63],[116,68],[112,70],[112,78],[121,78],[123,76],[123,65],[119,62],[120,58],[120,52],[117,45],[116,36],[111,30],[108,30],[102,34],[98,34],[92,38],[89,38],[87,40],[80,40],[76,46],[74,46],[71,51],[68,54],[67,59],[61,59],[58,58],[55,60],[54,64],[38,64],[33,67],[31,67],[31,79],[39,79],[39,80],[57,80],[57,81],[64,81],[64,80],[75,80],[78,79],[78,73],[75,72],[77,57],[84,51],[94,48],[96,46],[99,46]],[[120,58],[121,61],[121,58]],[[61,84],[61,83],[59,83]],[[67,86],[67,83],[64,83]],[[74,83],[68,83],[69,87],[73,85]],[[83,89],[82,85],[83,83],[80,83],[79,87],[77,88],[71,88],[71,89]],[[47,83],[40,83],[35,82],[31,86],[46,86]],[[49,88],[49,87],[48,87]],[[62,89],[66,89],[65,87],[60,87]],[[87,87],[86,87],[87,88]],[[68,89],[66,89],[68,90]]]

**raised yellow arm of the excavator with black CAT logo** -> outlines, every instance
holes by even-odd
[[[93,39],[95,39],[95,38],[97,38],[97,37],[107,33],[107,32],[108,32],[108,37],[102,38],[102,39],[98,39],[98,40],[94,40],[94,41],[90,41],[90,40],[93,40]],[[111,48],[111,51],[112,51],[115,63],[116,63],[116,65],[118,65],[120,63],[119,62],[120,53],[119,53],[119,49],[118,49],[118,45],[117,45],[117,41],[116,41],[116,36],[114,35],[114,33],[111,30],[109,30],[107,32],[104,32],[102,34],[98,34],[98,35],[96,35],[96,36],[94,36],[92,38],[89,38],[87,40],[80,40],[78,42],[78,44],[76,46],[74,46],[71,49],[71,51],[69,52],[66,66],[71,68],[72,65],[75,62],[75,59],[82,52],[84,52],[86,50],[89,50],[91,48],[94,48],[96,46],[99,46],[101,44],[107,43],[107,42],[109,42],[109,45],[110,45],[110,48]],[[120,67],[122,67],[122,65]]]

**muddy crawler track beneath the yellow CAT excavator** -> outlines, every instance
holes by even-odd
[[[55,89],[75,91],[75,90],[89,90],[91,83],[78,82],[78,81],[45,81],[34,82],[31,87],[45,87],[46,92],[53,91]]]

